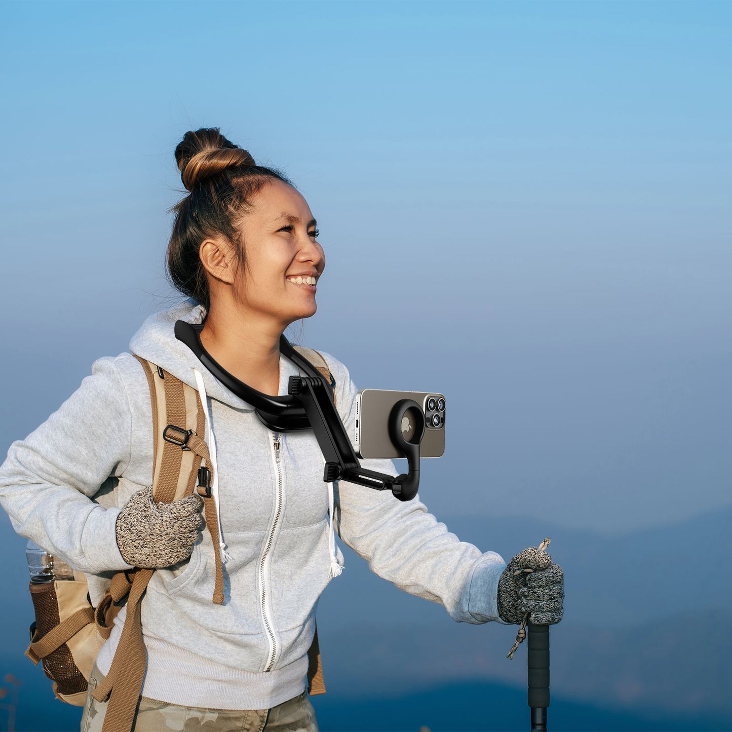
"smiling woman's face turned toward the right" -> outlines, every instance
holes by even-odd
[[[284,329],[315,314],[315,283],[325,255],[310,206],[293,187],[273,179],[252,204],[239,225],[244,271],[234,296],[252,315],[274,319]]]

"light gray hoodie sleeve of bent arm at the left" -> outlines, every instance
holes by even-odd
[[[91,376],[0,466],[0,505],[15,531],[89,574],[130,569],[116,542],[119,510],[91,500],[130,460],[132,415],[115,359]]]

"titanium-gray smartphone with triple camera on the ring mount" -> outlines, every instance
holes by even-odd
[[[438,392],[394,392],[361,389],[356,394],[356,439],[359,458],[403,458],[389,437],[389,414],[401,399],[413,399],[425,413],[425,436],[420,458],[439,458],[445,452],[445,397]],[[409,411],[405,419],[409,417]],[[404,436],[414,434],[414,419],[403,422]],[[411,433],[410,433],[411,432]]]

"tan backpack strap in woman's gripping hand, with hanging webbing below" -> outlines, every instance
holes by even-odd
[[[211,493],[212,465],[203,434],[206,417],[198,392],[171,373],[135,356],[143,367],[150,389],[153,434],[153,496],[171,503],[196,490],[214,545],[216,581],[213,602],[223,605],[223,567],[219,550],[219,526]],[[201,463],[205,461],[205,467]],[[198,486],[196,485],[198,479]],[[109,697],[102,732],[130,732],[141,694],[147,654],[141,625],[141,602],[154,569],[118,572],[108,598],[100,603],[106,612],[102,624],[106,635],[111,619],[127,599],[127,617],[112,665],[104,681],[92,692],[97,701]],[[102,632],[102,630],[100,630]]]

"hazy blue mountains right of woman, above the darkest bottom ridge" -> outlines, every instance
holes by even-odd
[[[620,537],[536,520],[445,523],[504,559],[552,537],[567,577],[564,620],[550,631],[554,694],[606,709],[698,715],[698,724],[732,720],[732,510]],[[318,608],[318,635],[326,683],[343,695],[416,692],[449,679],[526,684],[526,646],[505,658],[515,627],[453,623],[348,551]]]

